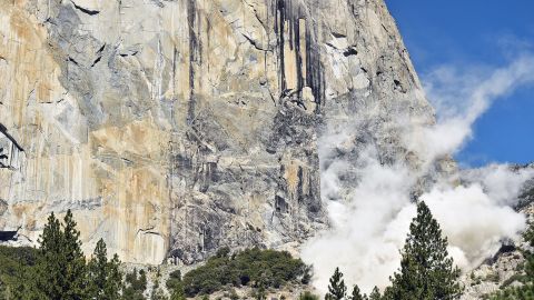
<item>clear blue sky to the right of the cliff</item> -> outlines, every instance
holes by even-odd
[[[386,0],[419,77],[442,66],[504,67],[534,53],[533,0]],[[533,70],[534,72],[534,70]],[[534,87],[500,98],[456,159],[464,166],[534,161]]]

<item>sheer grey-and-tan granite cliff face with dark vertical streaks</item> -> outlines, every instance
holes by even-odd
[[[291,249],[327,226],[326,128],[365,119],[342,154],[387,163],[393,114],[434,121],[382,0],[13,0],[0,24],[0,230],[30,242],[71,209],[130,262]]]

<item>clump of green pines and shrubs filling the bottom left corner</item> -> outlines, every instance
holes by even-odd
[[[108,261],[100,240],[86,264],[76,226],[70,210],[62,223],[51,213],[39,249],[0,248],[0,299],[119,299],[118,257]]]

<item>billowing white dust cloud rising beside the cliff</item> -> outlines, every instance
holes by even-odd
[[[314,284],[319,291],[326,290],[336,267],[348,284],[357,283],[366,292],[389,283],[415,216],[411,192],[417,189],[418,179],[432,172],[436,160],[455,153],[471,139],[473,123],[493,101],[534,83],[532,70],[534,57],[523,56],[493,71],[442,68],[433,72],[425,89],[436,108],[437,122],[429,127],[398,122],[404,147],[419,159],[416,169],[405,161],[380,163],[373,146],[363,149],[355,161],[336,159],[336,151],[350,143],[352,132],[362,128],[360,120],[324,134],[319,159],[328,163],[322,163],[322,194],[332,229],[317,234],[301,251],[304,260],[314,264]],[[405,119],[398,116],[398,120]],[[346,191],[343,181],[348,168],[355,169],[356,179],[350,180],[357,184]],[[532,169],[512,171],[493,164],[449,174],[419,196],[441,223],[449,253],[463,270],[476,267],[498,250],[502,240],[516,239],[524,229],[525,217],[511,206],[533,176]]]

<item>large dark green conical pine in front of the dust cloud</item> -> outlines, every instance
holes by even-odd
[[[447,239],[425,202],[417,206],[417,217],[402,252],[400,269],[390,278],[385,298],[393,300],[455,299],[462,288],[459,270],[448,257]]]

